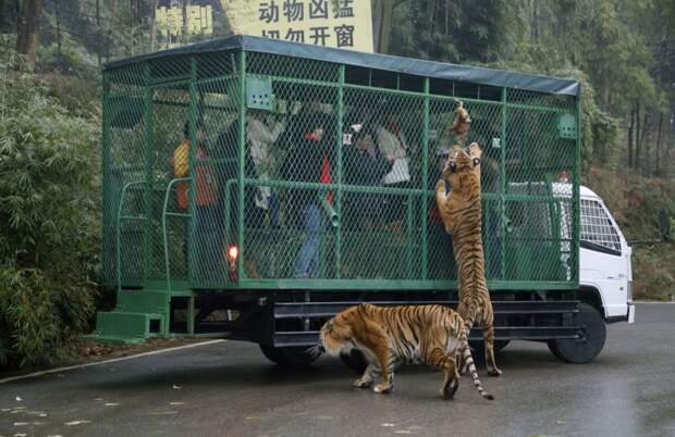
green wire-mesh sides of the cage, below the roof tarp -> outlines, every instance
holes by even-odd
[[[459,141],[456,98],[472,118],[463,146],[483,151],[488,278],[577,277],[577,207],[559,180],[578,172],[574,97],[237,50],[120,66],[105,84],[110,282],[445,286],[456,267],[433,188]]]

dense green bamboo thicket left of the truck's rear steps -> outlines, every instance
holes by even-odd
[[[0,362],[36,364],[87,327],[98,269],[99,124],[0,63]]]

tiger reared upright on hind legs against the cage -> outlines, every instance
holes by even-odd
[[[492,376],[502,374],[494,362],[494,314],[486,282],[481,239],[480,147],[472,142],[468,153],[454,146],[447,157],[443,178],[435,186],[435,199],[445,230],[452,234],[458,266],[459,304],[457,312],[470,332],[474,322],[482,325],[486,364]],[[451,187],[445,192],[445,183]]]

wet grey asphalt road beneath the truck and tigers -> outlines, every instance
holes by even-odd
[[[421,366],[375,395],[338,360],[289,372],[226,341],[0,384],[0,436],[675,436],[675,304],[638,304],[590,364],[530,342],[498,363],[499,378],[480,370],[496,400],[465,376],[443,401]]]

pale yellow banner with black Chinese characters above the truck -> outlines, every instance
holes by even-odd
[[[234,34],[372,52],[370,0],[221,0]]]

